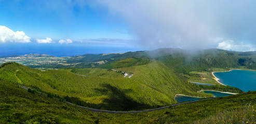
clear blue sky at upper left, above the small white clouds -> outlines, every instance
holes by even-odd
[[[92,8],[69,1],[2,1],[0,8],[1,25],[22,30],[32,38],[130,39],[117,32],[126,32],[123,20],[101,6]]]

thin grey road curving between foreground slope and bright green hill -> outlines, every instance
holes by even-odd
[[[25,87],[25,86],[21,86],[21,88],[24,88],[24,89],[26,89],[26,90],[29,89],[28,87]],[[41,93],[41,92],[40,92],[40,93]],[[182,105],[182,104],[195,103],[195,102],[199,102],[199,101],[204,101],[204,100],[209,100],[209,99],[216,99],[216,98],[219,98],[219,97],[212,97],[212,98],[206,98],[206,99],[201,99],[201,100],[196,100],[196,101],[177,103],[177,104],[173,104],[173,105],[169,105],[169,106],[165,106],[165,107],[154,108],[154,109],[151,109],[151,110],[130,111],[130,112],[127,112],[127,111],[97,110],[97,109],[94,109],[94,108],[89,108],[89,107],[84,107],[84,106],[76,105],[76,104],[73,104],[73,103],[71,103],[71,102],[66,102],[66,103],[69,103],[69,104],[72,104],[72,105],[76,105],[76,106],[78,106],[78,107],[80,107],[80,108],[85,108],[86,110],[90,110],[90,111],[92,111],[92,112],[104,112],[104,113],[118,114],[118,113],[141,113],[141,112],[151,112],[151,111],[163,110],[163,109],[168,108],[168,107],[174,107],[174,106],[178,106],[178,105]]]

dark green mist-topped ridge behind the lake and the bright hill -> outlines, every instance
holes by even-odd
[[[87,57],[86,57],[87,56]],[[256,69],[256,53],[255,52],[232,52],[220,49],[207,49],[200,51],[186,51],[181,49],[157,49],[154,51],[138,51],[128,52],[124,54],[109,55],[83,55],[74,56],[69,59],[68,63],[93,63],[104,60],[106,63],[102,65],[86,66],[85,68],[102,67],[104,65],[114,65],[112,62],[122,60],[129,57],[149,58],[162,61],[166,66],[174,68],[177,72],[190,72],[195,70],[208,70],[211,68],[248,68]],[[93,59],[92,59],[93,58]],[[97,58],[97,60],[95,60]],[[74,66],[83,68],[80,65]],[[62,67],[64,68],[64,67]]]

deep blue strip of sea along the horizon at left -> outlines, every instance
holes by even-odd
[[[10,45],[11,44],[11,45]],[[0,45],[0,56],[25,55],[31,53],[52,56],[75,56],[84,54],[125,53],[139,51],[138,48],[127,46],[93,46],[83,43],[72,44],[38,44],[38,43],[3,43]]]

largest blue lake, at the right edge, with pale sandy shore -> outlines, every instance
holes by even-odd
[[[256,90],[256,71],[231,70],[227,72],[213,73],[222,84],[233,86],[242,91]]]

